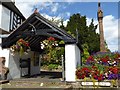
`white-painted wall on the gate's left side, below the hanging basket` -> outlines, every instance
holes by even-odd
[[[1,38],[0,38],[0,43],[2,43]],[[34,52],[31,51],[28,54],[23,55],[22,59],[31,58],[31,75],[40,74],[40,64],[39,66],[33,65],[33,60],[32,60],[33,53]],[[2,49],[0,46],[0,57],[5,57],[6,59],[5,66],[8,67],[10,70],[8,79],[20,78],[19,54],[17,53],[13,55],[9,49]],[[22,71],[23,71],[23,75],[26,75],[28,73],[27,68],[22,69]]]

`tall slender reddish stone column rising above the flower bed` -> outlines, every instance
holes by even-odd
[[[103,32],[103,12],[100,7],[100,2],[98,3],[97,17],[98,17],[99,32],[100,32],[100,52],[106,52],[104,32]]]

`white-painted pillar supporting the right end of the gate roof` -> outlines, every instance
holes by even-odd
[[[76,81],[76,68],[81,65],[80,50],[76,44],[65,45],[65,80],[68,82]]]

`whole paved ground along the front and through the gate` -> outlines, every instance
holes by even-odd
[[[82,87],[79,83],[68,84],[62,82],[61,78],[61,72],[42,71],[40,75],[35,75],[30,78],[22,77],[21,79],[10,80],[10,83],[2,85],[2,90],[120,90],[120,88],[114,87]]]

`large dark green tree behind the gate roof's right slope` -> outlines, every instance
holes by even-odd
[[[86,16],[81,16],[79,13],[70,16],[66,27],[61,26],[67,32],[71,32],[76,37],[76,29],[78,30],[78,39],[81,45],[87,44],[89,53],[98,52],[100,50],[99,34],[96,33],[97,25],[93,24],[93,19],[87,26]]]

